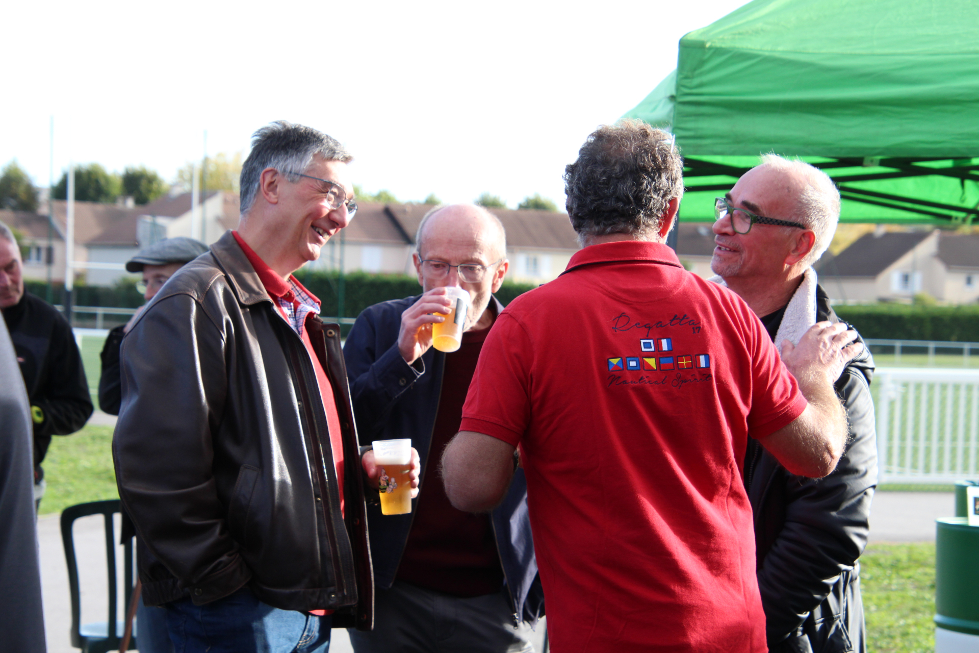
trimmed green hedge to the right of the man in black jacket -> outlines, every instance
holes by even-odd
[[[979,305],[921,306],[904,303],[836,305],[841,320],[863,338],[979,343]]]

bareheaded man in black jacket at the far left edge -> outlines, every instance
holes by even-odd
[[[41,461],[52,436],[67,436],[92,414],[92,396],[68,320],[23,290],[23,262],[14,234],[0,222],[0,309],[3,311],[34,425],[34,501],[44,495]]]

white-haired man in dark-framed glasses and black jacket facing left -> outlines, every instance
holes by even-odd
[[[751,306],[776,348],[797,343],[817,321],[839,321],[812,268],[840,213],[839,193],[825,173],[767,155],[718,198],[716,209],[715,280]],[[877,484],[872,372],[864,349],[835,383],[850,437],[829,476],[795,476],[759,443],[748,444],[745,487],[771,651],[866,650],[857,560]]]

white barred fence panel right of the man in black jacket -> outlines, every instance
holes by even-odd
[[[979,474],[979,369],[877,368],[880,483],[950,483]]]

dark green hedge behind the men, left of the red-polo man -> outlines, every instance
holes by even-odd
[[[296,276],[323,303],[321,310],[324,317],[341,314],[337,305],[340,299],[340,275],[337,272],[300,270]],[[346,317],[356,317],[361,310],[375,303],[411,297],[422,292],[418,278],[406,274],[352,272],[346,276],[344,282],[343,315]],[[43,281],[25,280],[24,286],[30,293],[40,298],[46,297],[47,284]],[[536,286],[504,283],[496,293],[496,299],[505,305],[532,288]],[[52,303],[63,302],[61,283],[52,284],[51,300]],[[114,286],[75,286],[72,303],[76,306],[136,308],[143,304],[143,296],[136,292],[132,279],[120,279]]]

